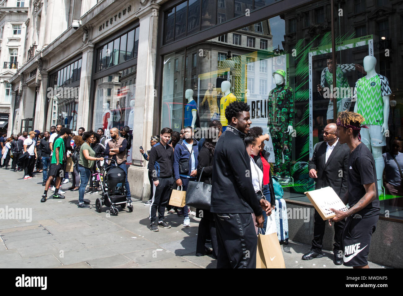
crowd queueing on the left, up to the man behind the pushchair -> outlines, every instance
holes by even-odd
[[[85,195],[97,194],[100,191],[99,180],[93,177],[94,162],[111,158],[126,173],[127,200],[131,202],[126,166],[127,150],[131,145],[129,127],[125,126],[121,130],[112,128],[110,135],[111,139],[106,139],[103,128],[99,128],[97,132],[86,132],[83,127],[79,128],[78,135],[74,135],[69,128],[63,128],[60,124],[51,126],[50,132],[24,131],[9,138],[4,134],[0,137],[3,147],[0,166],[8,170],[9,160],[12,158],[12,170],[24,172],[24,180],[42,173],[41,183],[45,188],[40,201],[46,202],[48,190],[53,191],[53,199],[65,198],[66,192],[62,190],[62,185],[69,182],[66,167],[71,159],[72,186],[65,190],[79,191],[77,206],[88,208],[89,202],[84,200]],[[89,188],[86,189],[88,184]]]

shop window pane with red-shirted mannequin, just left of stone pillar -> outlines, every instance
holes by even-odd
[[[136,66],[97,79],[95,82],[95,102],[93,129],[104,128],[110,139],[110,129],[130,127],[133,135],[134,105],[136,92]],[[127,164],[131,164],[133,147],[129,149]]]

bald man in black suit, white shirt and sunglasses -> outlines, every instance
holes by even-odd
[[[350,149],[346,144],[341,145],[336,134],[337,125],[330,123],[323,130],[323,142],[319,142],[309,161],[308,170],[310,178],[315,178],[316,189],[332,187],[343,197],[347,192],[347,168]],[[343,233],[344,219],[334,223],[334,264],[343,264],[343,250],[341,250],[341,234]],[[302,260],[323,257],[322,241],[325,233],[326,221],[323,221],[318,211],[315,210],[314,239],[311,250],[302,256]]]

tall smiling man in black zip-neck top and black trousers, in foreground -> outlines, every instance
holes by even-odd
[[[217,268],[255,268],[258,237],[253,226],[263,226],[262,209],[270,202],[255,193],[245,135],[251,125],[249,106],[235,101],[225,109],[228,127],[217,142],[212,175],[210,211],[218,239]]]

